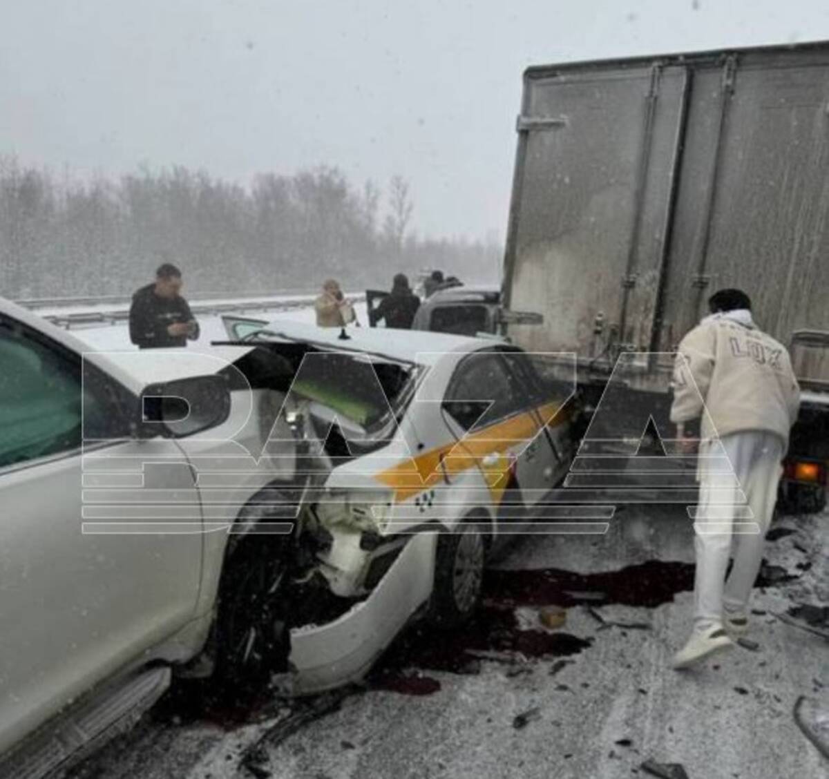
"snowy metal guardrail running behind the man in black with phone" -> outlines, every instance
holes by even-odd
[[[346,293],[351,301],[359,302],[365,300],[365,293]],[[282,312],[291,311],[296,308],[307,308],[313,305],[318,293],[297,293],[286,291],[264,297],[240,296],[239,298],[188,298],[191,311],[196,317],[218,316],[222,313],[254,313],[254,312]],[[58,327],[70,330],[72,327],[100,327],[102,325],[116,325],[127,322],[129,319],[129,304],[132,298],[124,297],[100,297],[100,298],[37,298],[17,301],[18,305],[29,308],[37,313],[39,310],[46,310],[41,316]],[[111,307],[101,307],[101,304],[109,303]],[[54,309],[77,308],[89,306],[88,311],[72,311],[61,313]],[[95,308],[92,308],[95,306]]]

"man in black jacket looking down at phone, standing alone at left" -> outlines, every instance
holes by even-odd
[[[156,280],[133,295],[129,340],[139,349],[187,346],[188,338],[198,338],[198,322],[181,291],[182,272],[165,263],[156,271]]]

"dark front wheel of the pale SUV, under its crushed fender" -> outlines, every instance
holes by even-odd
[[[245,539],[225,564],[216,619],[216,671],[244,691],[288,668],[288,544],[274,536]]]

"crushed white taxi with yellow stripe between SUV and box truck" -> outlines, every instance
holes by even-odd
[[[225,327],[255,345],[236,367],[255,389],[284,392],[280,414],[305,444],[293,692],[359,678],[412,617],[468,619],[487,555],[568,469],[574,383],[492,338]]]

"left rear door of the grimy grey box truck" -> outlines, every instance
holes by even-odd
[[[651,345],[688,80],[659,63],[527,71],[505,291],[545,327],[516,326],[521,346]]]

